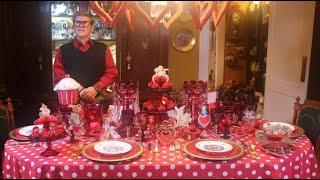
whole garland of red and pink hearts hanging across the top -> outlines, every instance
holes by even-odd
[[[107,4],[108,1],[103,1],[104,4]],[[150,26],[154,27],[157,22],[159,22],[163,17],[173,9],[173,4],[176,4],[177,8],[175,13],[168,19],[164,20],[162,23],[166,29],[172,25],[172,23],[177,20],[177,18],[183,13],[183,3],[184,2],[175,2],[168,3],[166,6],[160,10],[160,13],[157,17],[152,19],[148,13],[146,13],[139,5],[137,1],[135,2],[121,2],[114,1],[109,10],[109,13],[106,12],[98,3],[98,1],[90,1],[90,6],[92,10],[102,19],[105,24],[111,25],[114,27],[121,15],[122,10],[126,15],[127,23],[129,28],[133,30],[134,28],[134,14],[141,16],[144,21]],[[205,23],[213,17],[213,22],[215,26],[218,26],[221,18],[228,9],[230,2],[223,1],[222,3],[217,3],[215,1],[204,1],[204,2],[185,2],[187,3],[187,8],[196,24],[196,27],[201,31]],[[200,15],[202,14],[202,15]]]

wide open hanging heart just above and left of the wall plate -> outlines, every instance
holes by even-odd
[[[160,10],[159,15],[154,20],[152,20],[150,18],[150,16],[148,15],[148,13],[146,13],[140,7],[138,2],[134,2],[133,5],[132,5],[132,8],[134,8],[133,12],[135,12],[137,15],[141,16],[150,27],[154,27],[155,24],[157,22],[159,22],[167,14],[167,12],[170,10],[170,7],[167,4],[162,10]]]

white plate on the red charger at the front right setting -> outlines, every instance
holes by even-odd
[[[211,153],[229,152],[233,149],[231,144],[222,141],[199,141],[195,144],[196,148]]]

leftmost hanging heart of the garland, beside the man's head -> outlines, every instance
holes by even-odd
[[[102,21],[112,27],[118,22],[121,10],[124,7],[122,2],[113,2],[110,12],[111,14],[114,13],[114,16],[111,17],[110,14],[100,6],[98,1],[90,1],[89,3],[92,10],[102,19]]]

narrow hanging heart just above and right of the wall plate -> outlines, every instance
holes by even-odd
[[[201,31],[205,23],[212,16],[212,12],[216,8],[216,2],[205,1],[199,3],[200,2],[188,2],[187,7],[197,28]],[[204,12],[202,13],[202,11]],[[202,16],[200,16],[200,14],[202,14]]]

